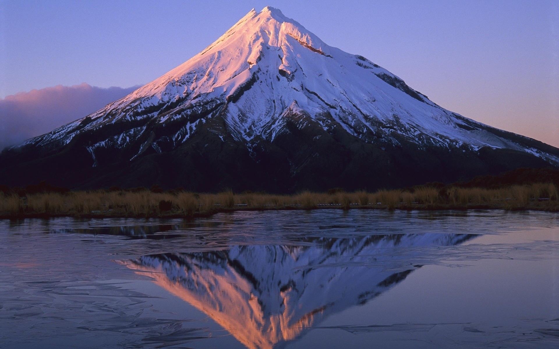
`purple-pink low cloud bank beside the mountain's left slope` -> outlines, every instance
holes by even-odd
[[[134,91],[83,83],[54,86],[0,99],[0,150],[91,114]]]

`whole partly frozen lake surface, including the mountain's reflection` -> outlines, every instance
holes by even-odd
[[[559,214],[0,220],[2,348],[557,348]]]

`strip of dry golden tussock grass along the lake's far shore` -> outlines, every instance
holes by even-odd
[[[222,210],[343,208],[387,209],[471,208],[559,210],[556,185],[537,183],[501,189],[450,187],[444,190],[417,187],[411,191],[363,190],[346,193],[312,193],[295,195],[266,193],[234,194],[226,190],[217,194],[106,192],[105,190],[69,193],[32,194],[18,197],[0,193],[0,217],[20,216],[111,216],[157,217],[211,214]]]

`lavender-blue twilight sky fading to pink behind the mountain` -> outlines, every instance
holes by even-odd
[[[26,137],[48,132],[53,122],[85,116],[78,108],[83,104],[93,112],[107,103],[106,95],[122,97],[110,87],[124,93],[158,78],[250,9],[267,5],[326,44],[388,69],[444,108],[559,147],[556,0],[0,0],[0,147],[12,127],[27,130]],[[83,83],[93,87],[91,95],[83,93]],[[27,101],[49,93],[30,92],[53,87],[82,92],[60,94],[60,106],[68,109],[73,101],[75,111],[32,115]],[[25,117],[13,106],[3,108],[17,93],[10,98],[28,111]],[[26,128],[34,117],[43,119],[36,125],[49,126]]]

